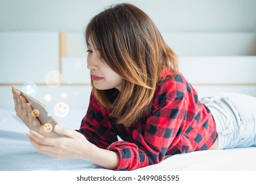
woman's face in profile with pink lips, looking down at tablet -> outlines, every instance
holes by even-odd
[[[94,87],[99,90],[116,88],[120,91],[122,78],[107,66],[91,44],[87,52],[87,68],[91,71]]]

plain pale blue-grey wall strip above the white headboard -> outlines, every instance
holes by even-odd
[[[81,32],[120,2],[143,9],[161,32],[256,32],[255,0],[0,0],[0,31]]]

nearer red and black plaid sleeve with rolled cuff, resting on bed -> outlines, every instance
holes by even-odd
[[[118,141],[108,148],[120,155],[116,170],[134,170],[157,164],[165,158],[166,150],[172,149],[180,139],[180,129],[192,119],[193,109],[185,97],[166,100],[164,96],[159,97],[159,101],[145,124],[132,132],[134,143]]]

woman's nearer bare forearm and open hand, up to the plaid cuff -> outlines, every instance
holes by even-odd
[[[64,137],[44,137],[36,131],[30,131],[28,138],[38,152],[53,158],[80,158],[107,169],[115,169],[119,155],[111,150],[100,149],[90,143],[84,135],[59,125],[55,131]]]

